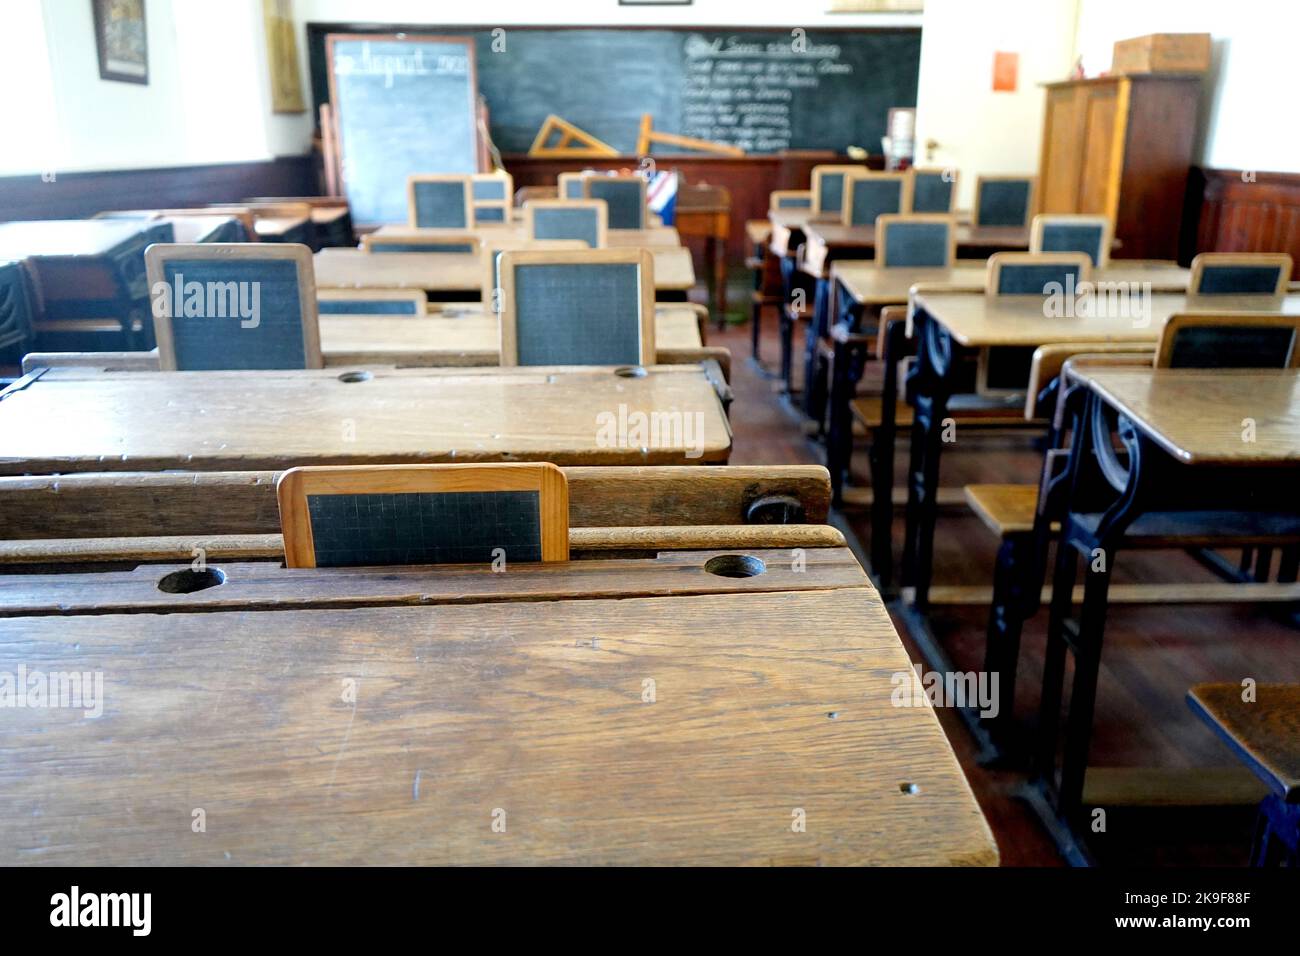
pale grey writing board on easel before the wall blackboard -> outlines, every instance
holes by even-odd
[[[358,224],[406,222],[408,176],[478,172],[472,38],[330,34],[325,52],[342,186]]]

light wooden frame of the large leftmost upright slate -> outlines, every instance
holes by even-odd
[[[144,250],[144,272],[150,290],[159,282],[166,282],[166,263],[173,259],[231,261],[231,260],[291,260],[298,267],[298,300],[302,307],[303,360],[304,368],[324,368],[321,355],[321,336],[316,312],[316,271],[312,251],[307,246],[292,242],[235,242],[235,243],[155,243]],[[164,372],[178,371],[176,360],[176,337],[172,329],[172,316],[153,315],[153,336],[157,341],[159,368]]]

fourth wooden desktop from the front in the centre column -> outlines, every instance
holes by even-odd
[[[658,297],[680,298],[696,285],[689,248],[650,251]],[[424,289],[432,299],[445,299],[448,293],[473,294],[476,300],[482,295],[484,260],[472,254],[322,248],[315,255],[315,263],[317,289]]]

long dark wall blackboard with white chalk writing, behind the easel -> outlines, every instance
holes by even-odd
[[[308,23],[317,107],[329,95],[325,35],[342,29]],[[394,29],[402,27],[382,27]],[[504,153],[528,152],[550,113],[624,155],[636,152],[642,113],[654,117],[655,129],[753,153],[842,152],[849,144],[878,152],[889,108],[916,104],[919,30],[809,30],[798,53],[784,29],[506,26],[498,38],[491,27],[438,33],[473,38],[478,90],[488,100],[493,142]]]

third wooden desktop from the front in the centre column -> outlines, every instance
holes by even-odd
[[[322,315],[318,323],[326,365],[500,364],[500,323],[481,308],[420,317]],[[655,349],[703,349],[696,312],[655,310]]]

